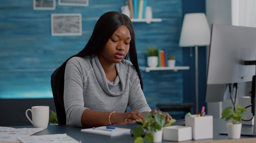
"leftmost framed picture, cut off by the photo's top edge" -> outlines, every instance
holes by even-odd
[[[34,10],[55,10],[56,0],[33,0]]]

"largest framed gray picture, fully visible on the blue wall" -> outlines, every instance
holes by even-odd
[[[61,13],[51,15],[53,36],[82,35],[81,13]]]

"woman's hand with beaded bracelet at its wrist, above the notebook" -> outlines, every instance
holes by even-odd
[[[113,113],[112,115],[119,125],[134,124],[136,123],[136,119],[146,121],[143,117],[143,113],[140,113],[137,110],[132,110],[126,113]]]

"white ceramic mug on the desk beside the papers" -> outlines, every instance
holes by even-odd
[[[32,120],[27,115],[28,111],[32,113]],[[33,106],[27,109],[26,116],[35,128],[46,129],[49,123],[49,106]]]

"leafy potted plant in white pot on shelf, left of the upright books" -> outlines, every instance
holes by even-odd
[[[158,65],[158,50],[155,47],[149,47],[146,50],[148,67],[157,67]]]

